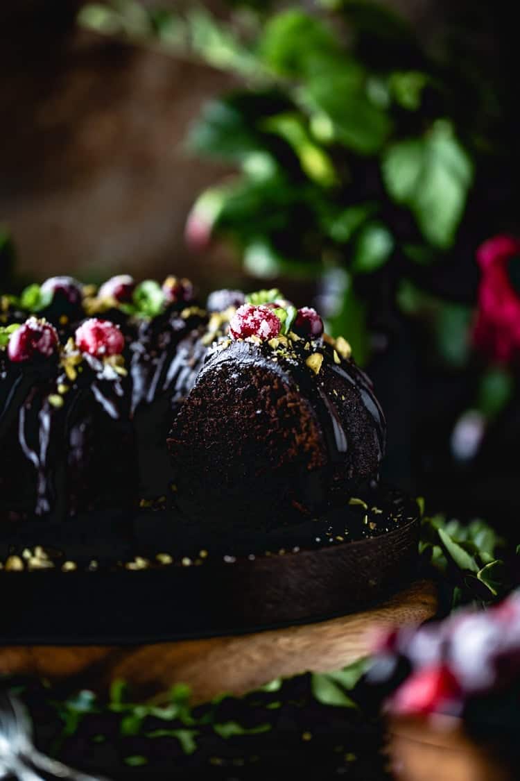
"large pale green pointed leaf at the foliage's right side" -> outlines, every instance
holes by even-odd
[[[383,175],[391,198],[411,209],[427,241],[450,247],[472,183],[472,163],[450,123],[438,120],[425,136],[391,144]]]

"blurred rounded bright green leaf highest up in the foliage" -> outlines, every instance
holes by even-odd
[[[323,21],[304,11],[288,9],[268,20],[259,55],[274,73],[297,78],[339,59],[341,53]]]

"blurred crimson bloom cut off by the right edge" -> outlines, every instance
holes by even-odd
[[[489,358],[509,363],[520,358],[520,294],[511,284],[511,262],[520,263],[520,240],[488,239],[477,251],[482,269],[473,341]]]

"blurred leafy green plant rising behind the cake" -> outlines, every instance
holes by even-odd
[[[363,362],[371,312],[357,280],[390,274],[400,305],[401,283],[450,256],[478,130],[460,127],[451,74],[384,5],[229,5],[223,21],[202,5],[175,12],[112,0],[84,6],[80,23],[242,80],[203,106],[189,134],[192,152],[237,169],[194,212],[238,246],[248,273],[315,278],[345,269],[345,300],[328,313],[329,327],[347,330]],[[441,357],[460,364],[466,311],[440,305],[433,319],[437,334],[455,334]]]

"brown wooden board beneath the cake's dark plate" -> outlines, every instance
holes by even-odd
[[[422,580],[363,612],[249,635],[138,647],[0,647],[0,674],[97,691],[124,679],[136,697],[157,701],[174,683],[187,683],[193,701],[203,702],[223,692],[245,694],[278,676],[340,669],[369,653],[377,629],[423,622],[436,612],[436,588]]]

